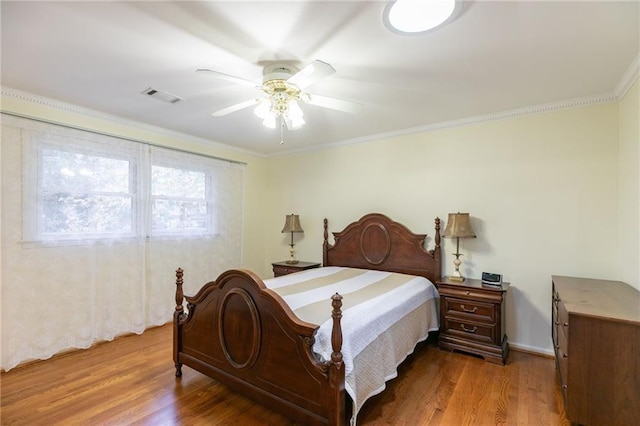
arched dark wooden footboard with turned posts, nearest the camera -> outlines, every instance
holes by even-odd
[[[182,285],[178,269],[177,377],[187,365],[303,424],[345,423],[342,296],[332,297],[333,353],[322,361],[312,350],[318,327],[299,320],[254,273],[226,271],[193,297],[184,297]]]

